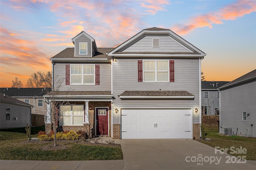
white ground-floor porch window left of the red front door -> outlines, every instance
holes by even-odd
[[[84,106],[68,105],[60,106],[60,125],[83,125]]]

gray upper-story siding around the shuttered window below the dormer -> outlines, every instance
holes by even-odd
[[[100,64],[100,85],[66,85],[66,64],[56,63],[54,65],[54,79],[63,80],[60,90],[76,91],[110,91],[111,90],[111,64]],[[78,63],[83,64],[83,63]],[[98,63],[90,63],[98,64]]]

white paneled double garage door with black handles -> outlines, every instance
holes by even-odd
[[[192,109],[122,109],[122,139],[192,139]]]

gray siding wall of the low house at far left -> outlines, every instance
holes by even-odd
[[[6,120],[6,107],[10,107],[10,120]],[[30,107],[1,102],[0,114],[0,128],[26,127],[26,123],[31,125]]]

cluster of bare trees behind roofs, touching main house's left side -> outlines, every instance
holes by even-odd
[[[44,72],[38,71],[31,74],[31,77],[28,79],[27,87],[37,87],[37,88],[50,88],[52,87],[52,73],[50,71]]]

